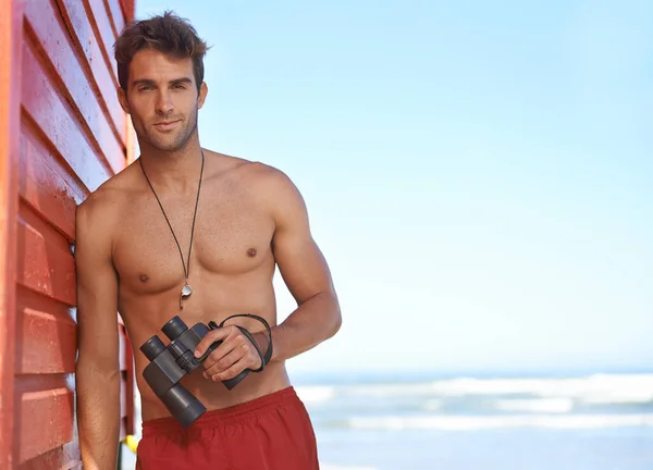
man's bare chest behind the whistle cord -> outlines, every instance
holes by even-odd
[[[195,198],[151,195],[125,208],[115,227],[114,264],[121,288],[156,294],[211,274],[239,275],[260,268],[271,255],[274,223],[243,195],[202,194]],[[195,227],[193,228],[193,224]]]

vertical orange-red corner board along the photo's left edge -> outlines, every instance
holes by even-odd
[[[0,2],[0,468],[13,465],[17,158],[23,2]]]

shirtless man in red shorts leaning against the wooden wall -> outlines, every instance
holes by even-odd
[[[205,52],[193,27],[170,13],[131,25],[115,45],[119,99],[141,154],[77,210],[76,391],[86,470],[116,466],[116,311],[135,349],[143,400],[138,469],[318,469],[313,429],[284,361],[338,331],[337,297],[288,177],[200,147]],[[281,324],[275,265],[298,305]],[[182,297],[186,285],[193,293]],[[215,341],[222,345],[182,381],[208,411],[184,429],[144,381],[149,361],[138,348],[155,334],[164,339],[160,329],[174,316],[192,326],[236,313],[272,325],[272,358],[230,391],[223,380],[261,366],[235,324],[251,332],[261,350],[267,331],[250,319],[211,331],[198,354]]]

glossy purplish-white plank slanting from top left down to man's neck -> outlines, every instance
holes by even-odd
[[[71,46],[73,40],[59,13],[53,11],[50,1],[27,2],[25,5],[27,34],[33,37],[41,52],[42,62],[59,82],[59,89],[78,112],[78,118],[94,136],[106,136],[104,152],[121,154],[123,152],[125,114],[120,108],[115,96],[104,103],[97,99],[98,90],[95,79],[89,77],[90,70],[86,67],[83,58],[77,58]],[[112,86],[112,83],[109,84]],[[108,137],[113,134],[115,143]],[[94,137],[97,138],[97,137]]]

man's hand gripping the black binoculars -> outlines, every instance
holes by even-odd
[[[252,333],[251,336],[260,344],[260,333]],[[262,359],[256,347],[236,325],[226,325],[207,333],[197,345],[195,357],[201,357],[217,341],[222,341],[222,344],[202,363],[205,378],[214,382],[225,381],[245,369],[257,370],[261,367]]]

